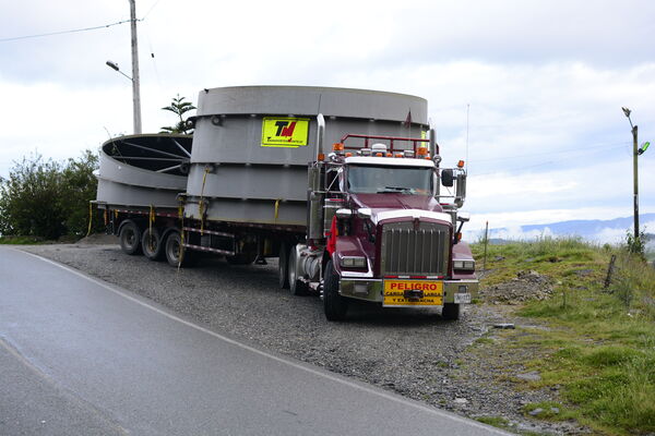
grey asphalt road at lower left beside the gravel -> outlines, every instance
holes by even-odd
[[[0,247],[0,435],[489,435]]]

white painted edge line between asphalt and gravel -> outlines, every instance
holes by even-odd
[[[67,270],[69,272],[72,272],[72,274],[74,274],[74,275],[76,275],[79,277],[82,277],[82,278],[84,278],[84,279],[86,279],[88,281],[92,281],[92,282],[98,284],[99,287],[105,288],[106,290],[116,293],[117,295],[120,295],[120,296],[122,296],[124,299],[128,299],[128,300],[130,300],[130,301],[132,301],[132,302],[134,302],[136,304],[140,304],[143,307],[150,308],[151,311],[154,311],[154,312],[156,312],[156,313],[158,313],[160,315],[164,315],[164,316],[166,316],[166,317],[168,317],[168,318],[170,318],[172,320],[181,323],[181,324],[183,324],[183,325],[186,325],[188,327],[191,327],[191,328],[200,330],[200,331],[202,331],[204,334],[211,335],[211,336],[213,336],[216,339],[219,339],[222,341],[231,343],[233,346],[236,346],[236,347],[240,347],[240,348],[242,348],[245,350],[248,350],[248,351],[253,352],[255,354],[260,354],[260,355],[262,355],[264,358],[267,358],[267,359],[271,359],[273,361],[276,361],[276,362],[283,363],[285,365],[289,365],[291,367],[295,367],[297,370],[301,370],[301,371],[308,372],[310,374],[313,374],[313,375],[326,378],[326,379],[329,379],[331,382],[340,383],[342,385],[346,385],[346,386],[349,386],[352,388],[356,388],[356,389],[366,391],[368,393],[373,393],[373,395],[377,395],[379,397],[385,398],[388,400],[392,400],[392,401],[398,402],[401,404],[409,405],[409,407],[422,410],[425,412],[429,412],[431,414],[434,414],[434,415],[438,415],[438,416],[441,416],[441,417],[444,417],[444,419],[449,419],[449,420],[456,421],[456,422],[460,422],[460,423],[468,424],[468,425],[471,425],[473,427],[483,428],[483,429],[486,429],[486,431],[488,431],[490,433],[497,433],[499,435],[512,435],[511,433],[502,432],[502,431],[500,431],[498,428],[484,425],[484,424],[478,423],[476,421],[467,420],[465,417],[461,417],[461,416],[457,416],[457,415],[454,415],[454,414],[451,414],[451,413],[446,413],[446,412],[443,412],[443,411],[441,411],[439,409],[432,409],[432,408],[429,408],[427,405],[422,405],[420,403],[417,403],[417,402],[415,402],[413,400],[407,400],[407,399],[404,399],[402,397],[396,397],[395,395],[386,393],[386,392],[380,391],[378,389],[372,389],[370,387],[359,385],[358,383],[353,383],[350,380],[343,379],[343,378],[336,377],[336,376],[331,375],[331,374],[326,374],[326,373],[324,373],[322,371],[318,371],[318,370],[314,370],[314,368],[311,368],[311,367],[298,364],[296,362],[291,362],[291,361],[288,361],[286,359],[282,359],[279,356],[274,355],[274,354],[270,354],[270,353],[267,353],[265,351],[258,350],[257,348],[253,348],[253,347],[247,346],[245,343],[238,342],[238,341],[236,341],[234,339],[225,337],[225,336],[223,336],[221,334],[217,334],[217,332],[215,332],[213,330],[210,330],[210,329],[207,329],[205,327],[199,326],[196,324],[193,324],[193,323],[190,323],[190,322],[188,322],[186,319],[182,319],[182,318],[180,318],[180,317],[178,317],[176,315],[167,313],[167,312],[165,312],[165,311],[163,311],[163,310],[160,310],[158,307],[155,307],[155,306],[153,306],[153,305],[151,305],[151,304],[148,304],[148,303],[146,303],[144,301],[141,301],[141,300],[139,300],[139,299],[136,299],[136,298],[134,298],[132,295],[128,295],[126,292],[123,292],[123,291],[121,291],[119,289],[115,289],[111,286],[109,286],[108,283],[106,283],[104,281],[100,281],[100,280],[98,280],[96,278],[93,278],[91,276],[87,276],[86,274],[81,272],[81,271],[79,271],[76,269],[73,269],[73,268],[68,267],[68,266],[62,265],[62,264],[59,264],[59,263],[57,263],[55,261],[50,261],[48,258],[41,257],[41,256],[39,256],[37,254],[34,254],[34,253],[24,252],[24,251],[17,250],[17,249],[11,249],[11,250],[15,250],[17,252],[28,254],[29,256],[36,257],[39,261],[43,261],[43,262],[46,262],[48,264],[55,265],[55,266],[57,266],[57,267],[59,267],[61,269],[64,269],[64,270]]]

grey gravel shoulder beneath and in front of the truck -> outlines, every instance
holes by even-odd
[[[178,270],[128,256],[118,244],[106,244],[111,241],[20,249],[118,284],[217,332],[441,409],[474,419],[500,416],[517,433],[582,432],[570,423],[525,417],[523,405],[556,400],[557,392],[516,389],[508,374],[523,368],[503,366],[500,349],[477,346],[483,336],[500,335],[492,328],[498,323],[529,322],[512,317],[507,306],[469,305],[458,322],[446,322],[439,310],[361,304],[346,322],[329,323],[319,298],[277,288],[274,261],[230,266],[212,258]]]

